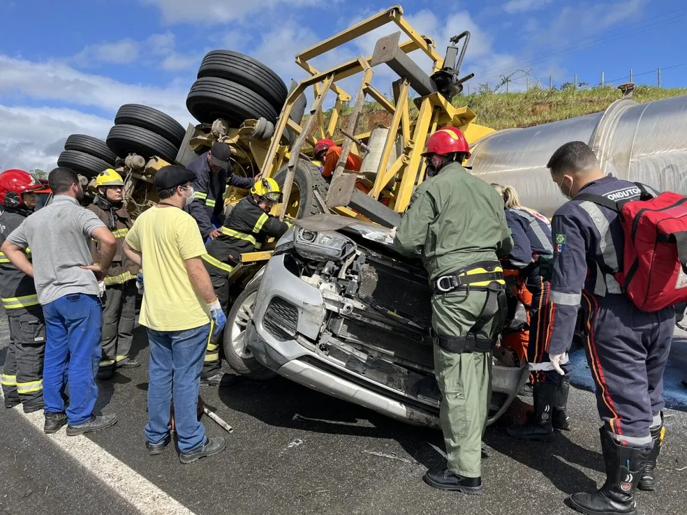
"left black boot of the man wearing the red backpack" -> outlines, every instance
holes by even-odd
[[[600,428],[606,482],[594,493],[573,493],[570,503],[586,515],[635,515],[635,490],[649,451],[621,445]]]

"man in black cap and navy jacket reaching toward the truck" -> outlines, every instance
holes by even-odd
[[[232,173],[231,149],[228,144],[216,142],[212,148],[195,158],[188,170],[195,172],[193,181],[193,202],[184,210],[198,223],[203,241],[214,239],[224,221],[224,194],[228,186],[249,189],[253,180]],[[260,176],[258,176],[260,177]]]

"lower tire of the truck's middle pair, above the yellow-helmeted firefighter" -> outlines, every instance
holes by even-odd
[[[179,153],[179,147],[161,135],[133,125],[115,125],[110,129],[107,141],[110,150],[121,158],[138,154],[146,160],[158,156],[168,163],[174,163]]]

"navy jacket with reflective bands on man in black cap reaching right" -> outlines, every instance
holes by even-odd
[[[205,240],[214,230],[213,216],[219,223],[223,223],[224,194],[227,185],[249,189],[253,186],[253,179],[233,174],[231,166],[228,171],[213,172],[207,162],[207,152],[191,161],[186,168],[195,172],[195,181],[193,202],[184,207],[184,211],[193,216],[198,223],[202,239]]]

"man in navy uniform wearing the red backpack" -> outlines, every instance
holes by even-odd
[[[635,184],[604,175],[591,149],[569,142],[547,164],[570,199],[554,214],[554,267],[549,314],[549,359],[559,373],[582,306],[585,346],[603,427],[606,482],[570,502],[586,514],[635,514],[637,486],[653,490],[663,442],[663,369],[675,322],[671,306],[645,313],[623,294],[614,274],[623,262],[623,229],[616,212],[577,195],[633,200]],[[619,266],[620,265],[620,266]]]

